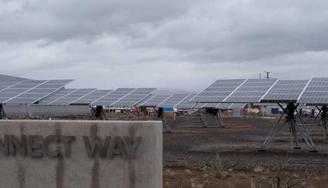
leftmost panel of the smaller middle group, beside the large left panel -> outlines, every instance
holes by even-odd
[[[70,105],[75,101],[81,99],[82,97],[94,92],[96,89],[75,89],[73,92],[69,92],[64,96],[55,99],[54,101],[50,101],[50,103],[46,103],[47,105]],[[45,104],[45,103],[43,103]]]

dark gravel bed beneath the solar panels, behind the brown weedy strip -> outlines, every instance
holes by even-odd
[[[318,153],[309,152],[302,140],[301,150],[290,149],[286,127],[266,152],[258,152],[275,120],[242,118],[224,120],[223,128],[175,126],[173,133],[164,133],[163,160],[165,167],[203,168],[216,161],[216,153],[226,169],[254,171],[255,168],[293,171],[328,171],[328,143],[323,131],[315,127],[313,141]]]

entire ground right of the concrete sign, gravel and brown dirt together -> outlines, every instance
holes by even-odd
[[[279,175],[281,182],[301,181],[295,187],[328,187],[328,143],[322,127],[314,126],[311,133],[316,153],[301,139],[301,149],[293,149],[288,126],[259,152],[275,123],[256,117],[225,118],[221,128],[175,125],[173,133],[163,136],[164,187],[274,187],[273,177]],[[209,173],[217,156],[224,168],[221,179]]]

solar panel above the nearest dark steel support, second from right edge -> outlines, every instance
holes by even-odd
[[[266,103],[296,102],[309,80],[278,80],[269,92],[262,98]]]

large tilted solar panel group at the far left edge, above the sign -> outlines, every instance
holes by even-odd
[[[24,80],[0,91],[1,103],[32,104],[54,94],[72,80]]]

